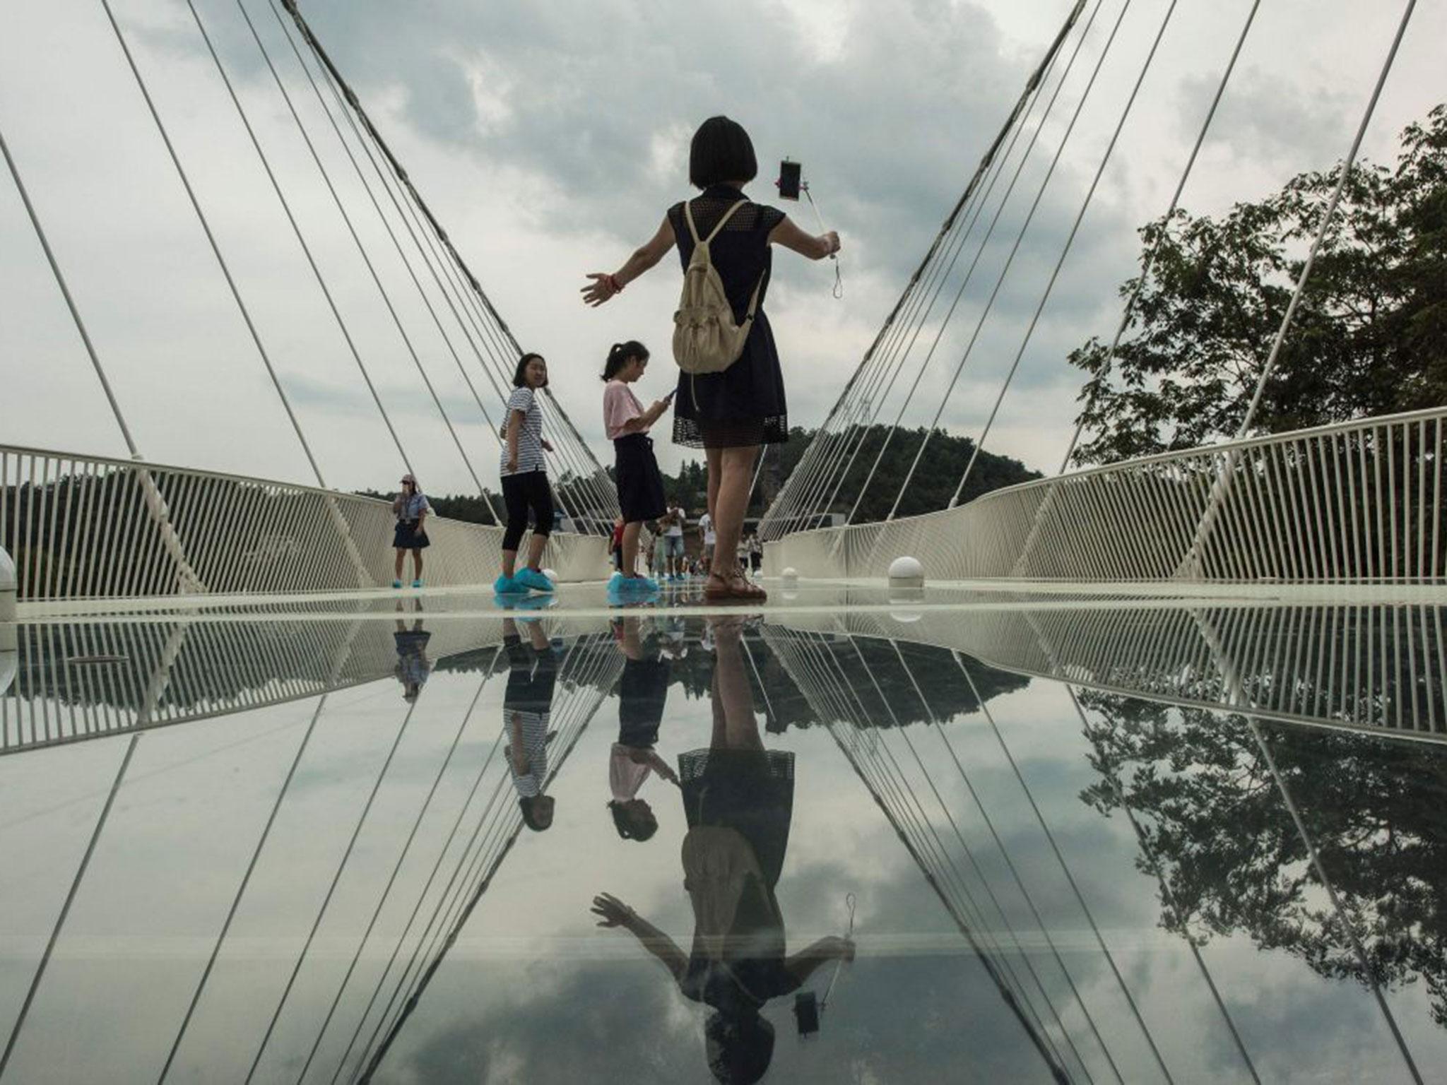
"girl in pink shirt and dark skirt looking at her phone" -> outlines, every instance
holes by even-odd
[[[622,570],[614,573],[609,587],[615,590],[654,590],[655,580],[638,576],[638,532],[645,519],[657,519],[667,511],[663,493],[663,475],[653,454],[653,438],[648,428],[658,421],[669,404],[670,392],[653,407],[644,409],[638,396],[628,386],[642,376],[648,367],[648,347],[637,340],[614,343],[603,363],[603,428],[614,443],[618,476],[618,505],[624,514],[624,561]]]

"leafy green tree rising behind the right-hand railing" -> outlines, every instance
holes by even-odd
[[[1077,463],[1233,437],[1286,311],[1341,165],[1292,178],[1223,218],[1178,210],[1140,230],[1160,242],[1107,372],[1091,337],[1069,362],[1090,378]],[[1123,298],[1139,276],[1120,288]],[[1347,178],[1255,431],[1282,433],[1447,402],[1447,106],[1401,136],[1395,168]]]

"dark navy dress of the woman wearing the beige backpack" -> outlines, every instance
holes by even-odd
[[[692,200],[693,224],[699,237],[708,237],[729,207],[745,200],[731,185],[710,185]],[[673,441],[692,448],[732,448],[752,444],[777,444],[789,440],[789,408],[784,402],[784,376],[778,366],[774,333],[764,314],[764,295],[773,266],[770,231],[784,220],[777,207],[750,203],[728,220],[709,244],[709,255],[724,292],[734,307],[734,320],[744,321],[748,299],[760,285],[754,327],[744,343],[744,353],[722,373],[679,373],[679,395],[673,401]],[[693,236],[683,216],[683,204],[669,208],[669,221],[679,243],[679,258],[689,266]]]

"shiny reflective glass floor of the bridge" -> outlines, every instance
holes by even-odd
[[[592,587],[0,652],[0,1082],[1411,1082],[1431,603]]]

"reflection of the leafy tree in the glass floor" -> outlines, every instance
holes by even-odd
[[[1198,940],[1243,932],[1325,977],[1421,978],[1447,1026],[1447,751],[1259,725],[1344,919],[1244,718],[1101,693],[1081,703],[1106,777],[1081,797],[1136,814],[1178,910],[1162,926]],[[1137,864],[1156,872],[1145,856]],[[1343,922],[1354,923],[1365,965]]]

